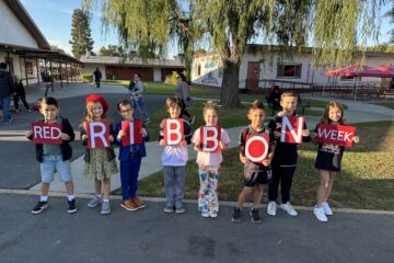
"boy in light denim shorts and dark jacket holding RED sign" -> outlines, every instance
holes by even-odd
[[[72,149],[69,145],[76,137],[69,121],[59,115],[59,104],[55,98],[46,96],[42,99],[39,112],[43,118],[37,123],[61,124],[61,145],[36,144],[36,158],[39,162],[42,187],[40,197],[37,205],[33,208],[33,214],[39,214],[48,207],[49,184],[54,181],[55,169],[60,180],[65,182],[68,198],[68,213],[77,211],[76,196],[71,176],[70,159]],[[28,139],[33,139],[33,130],[26,133]]]

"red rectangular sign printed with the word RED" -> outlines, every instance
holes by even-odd
[[[33,142],[61,145],[61,124],[32,123]]]

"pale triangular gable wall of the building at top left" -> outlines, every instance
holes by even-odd
[[[4,0],[0,0],[0,43],[38,48],[37,42],[9,9]]]

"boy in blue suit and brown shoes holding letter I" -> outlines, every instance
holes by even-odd
[[[124,121],[135,121],[132,118],[134,107],[129,100],[120,101],[117,104],[117,110]],[[137,198],[138,173],[141,167],[141,160],[147,156],[143,141],[149,140],[149,135],[143,126],[140,130],[142,135],[142,144],[134,144],[123,146],[121,140],[126,133],[121,129],[121,122],[116,124],[116,140],[115,144],[120,146],[119,161],[120,161],[120,182],[121,182],[121,196],[120,204],[127,210],[137,210],[146,207],[139,198]]]

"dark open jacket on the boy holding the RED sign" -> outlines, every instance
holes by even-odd
[[[60,148],[61,148],[61,156],[62,156],[62,160],[67,161],[70,160],[72,157],[72,148],[70,146],[70,142],[72,140],[74,140],[76,138],[76,134],[70,125],[70,122],[67,118],[61,117],[61,133],[67,134],[68,136],[70,136],[70,140],[62,140]],[[44,123],[44,118],[39,118],[37,119],[37,123]],[[33,139],[33,135],[31,135],[30,137],[27,137],[30,140]],[[37,161],[43,162],[44,160],[44,147],[43,144],[36,144],[36,158]]]

